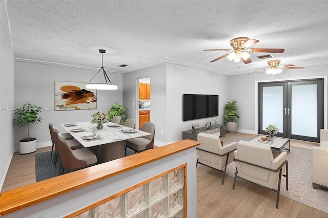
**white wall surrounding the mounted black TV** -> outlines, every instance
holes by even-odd
[[[218,73],[167,64],[167,143],[182,140],[182,131],[191,129],[192,123],[200,126],[213,118],[182,121],[183,94],[219,95],[218,124],[223,124],[224,104],[230,99],[229,77]]]

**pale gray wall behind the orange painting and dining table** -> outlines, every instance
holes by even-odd
[[[14,61],[14,69],[14,106],[21,106],[25,102],[30,102],[40,107],[54,107],[55,81],[88,82],[98,71],[16,60]],[[112,104],[122,104],[122,74],[108,72],[107,74],[111,81],[118,85],[118,90],[97,90],[96,110],[44,110],[40,114],[43,118],[42,122],[38,125],[32,124],[30,127],[30,136],[36,138],[37,147],[52,144],[48,127],[49,121],[58,128],[59,132],[64,132],[64,129],[59,125],[60,123],[91,121],[91,114],[96,111],[107,113]],[[92,81],[97,81],[97,79],[103,78],[94,78]],[[19,140],[26,137],[26,126],[20,128],[16,125],[14,127],[15,151],[18,150]]]

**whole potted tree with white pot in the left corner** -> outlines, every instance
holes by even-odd
[[[27,125],[27,138],[19,140],[19,154],[30,154],[36,151],[36,138],[30,137],[30,124],[41,122],[42,118],[37,116],[41,113],[41,108],[33,105],[29,102],[22,107],[18,107],[18,110],[14,113],[17,118],[13,119],[13,124],[20,125],[20,127]]]

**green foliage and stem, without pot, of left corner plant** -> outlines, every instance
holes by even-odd
[[[38,113],[42,113],[41,108],[33,105],[29,102],[24,104],[22,107],[18,107],[18,110],[14,113],[14,115],[17,115],[17,118],[14,118],[13,124],[20,125],[20,127],[27,125],[27,138],[22,139],[20,141],[32,141],[35,140],[35,138],[30,138],[30,128],[29,125],[31,123],[37,123],[41,122],[43,120],[40,116],[37,116]]]

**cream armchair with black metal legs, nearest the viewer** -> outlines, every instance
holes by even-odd
[[[234,151],[236,172],[232,188],[235,189],[236,179],[248,181],[253,185],[269,189],[277,193],[276,208],[279,205],[281,177],[286,177],[288,190],[288,162],[287,152],[273,158],[270,145],[260,142],[240,140]],[[285,175],[284,172],[286,172]],[[278,183],[277,190],[275,186]]]

